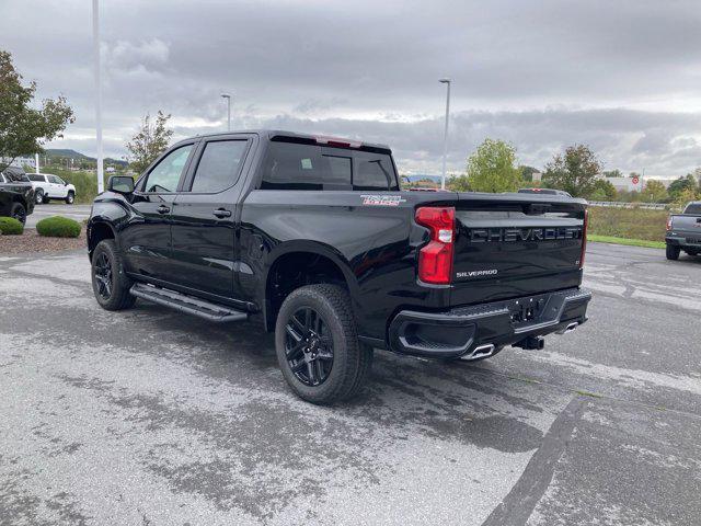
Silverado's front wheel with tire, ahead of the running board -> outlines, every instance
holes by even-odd
[[[129,294],[131,279],[124,273],[117,247],[112,239],[97,243],[92,253],[92,290],[105,310],[123,310],[134,306]]]

